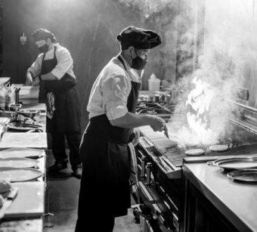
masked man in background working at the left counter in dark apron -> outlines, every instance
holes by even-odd
[[[40,54],[27,70],[26,84],[39,84],[39,102],[46,102],[46,131],[51,134],[56,160],[49,171],[59,172],[67,167],[66,138],[73,175],[80,179],[80,101],[75,88],[77,80],[73,72],[73,58],[49,30],[35,30],[32,37]]]

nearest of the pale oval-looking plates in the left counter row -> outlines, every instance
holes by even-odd
[[[10,182],[33,181],[43,173],[33,168],[0,167],[1,179]]]

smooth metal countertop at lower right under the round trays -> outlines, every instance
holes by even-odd
[[[232,181],[223,169],[205,163],[185,164],[183,174],[238,231],[257,231],[256,183]]]

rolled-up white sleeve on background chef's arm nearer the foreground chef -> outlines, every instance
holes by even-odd
[[[57,65],[51,70],[51,74],[61,79],[65,73],[73,66],[73,58],[70,56],[70,52],[67,49],[61,49],[56,53]]]

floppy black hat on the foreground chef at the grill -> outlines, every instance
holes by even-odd
[[[123,29],[117,39],[123,50],[130,46],[134,46],[135,49],[153,49],[161,44],[161,37],[156,32],[133,26]]]

